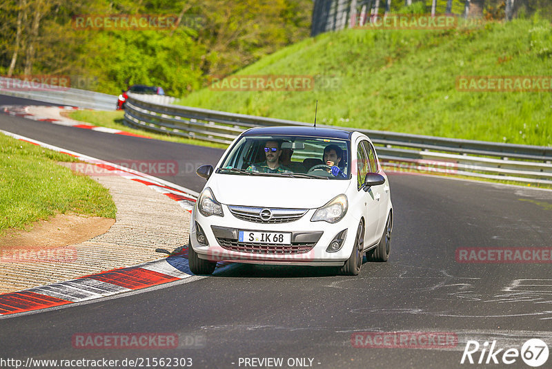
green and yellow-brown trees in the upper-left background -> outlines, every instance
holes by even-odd
[[[110,94],[152,84],[186,95],[210,75],[307,37],[311,10],[311,0],[7,0],[0,4],[0,74],[69,75],[77,88]],[[77,15],[180,21],[157,30],[80,30]]]

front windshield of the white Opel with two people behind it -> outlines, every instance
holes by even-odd
[[[351,178],[348,141],[334,138],[244,136],[217,173],[342,180]]]

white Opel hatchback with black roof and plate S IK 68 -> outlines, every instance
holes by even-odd
[[[195,274],[217,261],[339,267],[357,275],[387,261],[393,206],[366,135],[343,129],[249,129],[226,150],[192,211],[188,260]]]

